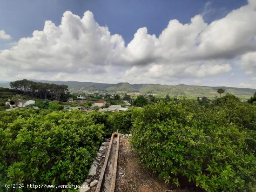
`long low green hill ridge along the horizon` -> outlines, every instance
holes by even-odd
[[[33,80],[33,79],[32,79]],[[241,99],[249,99],[256,89],[237,88],[227,86],[189,86],[189,85],[160,85],[160,84],[129,84],[129,83],[94,83],[94,82],[79,82],[79,81],[48,81],[48,80],[33,80],[42,83],[54,83],[58,85],[67,85],[71,91],[74,90],[106,90],[113,92],[138,92],[148,94],[169,94],[171,96],[186,96],[186,97],[202,97],[206,96],[213,98],[219,94],[217,89],[222,88],[226,93],[236,95]],[[3,87],[7,87],[9,82],[2,82]],[[0,82],[1,86],[1,82]]]

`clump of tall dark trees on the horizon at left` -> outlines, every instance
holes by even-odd
[[[66,85],[34,82],[27,79],[10,82],[10,86],[17,93],[29,95],[34,98],[65,100],[69,98]]]

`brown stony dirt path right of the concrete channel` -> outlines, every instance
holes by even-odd
[[[120,137],[115,192],[199,192],[198,188],[166,184],[137,162],[128,138]]]

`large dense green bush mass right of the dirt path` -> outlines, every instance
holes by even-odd
[[[186,176],[209,192],[253,191],[256,106],[232,95],[204,105],[162,101],[145,106],[133,126],[134,150],[167,182]]]

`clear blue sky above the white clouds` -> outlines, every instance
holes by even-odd
[[[67,10],[79,16],[90,10],[101,26],[129,42],[143,26],[159,35],[171,19],[188,23],[194,15],[209,11],[204,20],[210,23],[246,4],[247,0],[0,0],[0,26],[17,41],[42,30],[46,20],[59,25]]]

